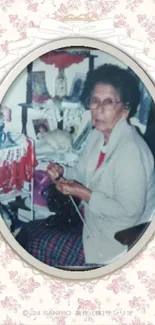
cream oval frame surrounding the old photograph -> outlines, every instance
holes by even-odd
[[[139,79],[144,83],[148,91],[150,92],[152,99],[155,101],[155,86],[151,81],[150,77],[143,71],[139,64],[137,64],[133,59],[131,59],[127,54],[123,53],[121,50],[115,48],[112,45],[106,44],[99,40],[94,40],[90,38],[65,38],[51,41],[50,43],[39,47],[34,50],[32,53],[28,54],[16,66],[9,72],[9,74],[5,77],[4,81],[0,86],[0,100],[2,102],[3,97],[8,91],[9,87],[16,79],[16,77],[27,67],[28,64],[36,60],[38,57],[43,54],[57,49],[69,48],[69,47],[87,47],[96,50],[103,51],[107,54],[114,56],[116,59],[129,66],[139,77]],[[1,233],[4,236],[7,243],[11,246],[11,248],[18,254],[18,256],[23,260],[23,262],[28,263],[29,267],[35,268],[35,273],[41,272],[43,275],[50,275],[59,279],[66,280],[90,280],[96,278],[102,278],[103,276],[109,275],[110,273],[118,270],[127,264],[131,259],[133,259],[148,243],[150,238],[153,236],[155,231],[155,218],[153,214],[152,221],[149,227],[145,230],[144,234],[138,240],[138,242],[124,255],[118,257],[117,260],[113,261],[110,265],[105,267],[100,267],[93,270],[79,270],[79,271],[71,271],[71,270],[62,270],[59,268],[54,268],[48,266],[33,256],[31,256],[25,249],[23,249],[16,239],[11,234],[10,230],[6,226],[2,217],[0,218],[0,227]],[[77,268],[76,268],[77,269]]]

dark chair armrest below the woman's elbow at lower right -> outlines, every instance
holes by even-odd
[[[122,245],[127,245],[128,250],[131,249],[132,246],[136,244],[136,242],[140,239],[143,233],[146,231],[150,222],[145,222],[140,225],[127,228],[121,231],[116,232],[114,238],[120,242]]]

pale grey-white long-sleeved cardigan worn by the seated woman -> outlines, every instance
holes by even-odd
[[[103,143],[103,134],[94,129],[76,167],[65,172],[67,179],[92,190],[84,202],[86,263],[108,264],[124,254],[127,247],[115,240],[115,233],[150,220],[155,207],[154,160],[135,127],[124,119],[116,124],[105,160],[95,170]]]

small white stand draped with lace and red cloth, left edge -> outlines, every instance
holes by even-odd
[[[34,141],[23,134],[2,132],[0,143],[0,203],[30,198],[33,220]],[[9,135],[9,136],[8,136]]]

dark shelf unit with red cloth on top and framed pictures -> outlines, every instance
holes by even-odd
[[[40,57],[40,60],[48,65],[55,65],[58,74],[55,79],[55,96],[48,92],[45,72],[33,71],[33,63],[27,66],[26,82],[26,103],[19,103],[22,107],[22,130],[27,135],[28,110],[39,108],[42,111],[51,106],[57,106],[59,112],[58,128],[63,129],[63,105],[67,104],[74,107],[78,104],[82,92],[85,76],[76,76],[74,85],[68,94],[65,69],[72,64],[80,64],[88,59],[88,71],[94,69],[94,60],[97,55],[85,50],[56,50],[51,51]]]

